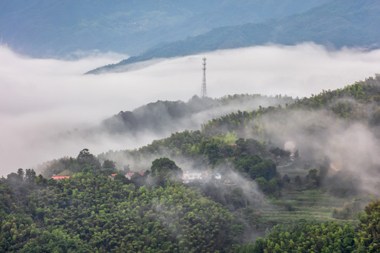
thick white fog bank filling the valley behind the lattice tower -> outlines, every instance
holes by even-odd
[[[77,60],[20,56],[0,44],[0,176],[18,168],[83,148],[94,155],[139,148],[157,136],[131,138],[53,138],[86,129],[117,114],[156,100],[183,100],[201,93],[202,60],[207,58],[208,96],[235,93],[310,96],[343,88],[380,72],[380,50],[327,51],[312,43],[254,46],[198,56],[152,60],[137,70],[100,75],[84,72],[127,58],[118,53],[80,53]]]

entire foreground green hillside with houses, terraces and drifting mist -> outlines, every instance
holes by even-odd
[[[378,252],[379,105],[376,74],[137,150],[18,169],[0,180],[0,250]]]

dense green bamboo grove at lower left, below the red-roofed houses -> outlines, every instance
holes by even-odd
[[[136,186],[81,172],[58,181],[10,175],[0,186],[2,252],[228,252],[234,245],[231,214],[173,181]]]

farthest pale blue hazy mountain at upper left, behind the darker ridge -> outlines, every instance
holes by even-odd
[[[151,46],[226,25],[307,11],[324,1],[1,1],[0,38],[37,58],[77,51],[137,55]]]

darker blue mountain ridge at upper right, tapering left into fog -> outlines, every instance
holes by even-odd
[[[87,72],[122,72],[128,65],[151,60],[188,56],[226,48],[268,43],[294,45],[313,41],[328,48],[380,47],[380,2],[335,0],[300,14],[272,18],[260,23],[218,27],[196,37],[151,48],[139,56]]]

